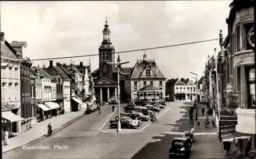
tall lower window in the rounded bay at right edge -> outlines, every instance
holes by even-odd
[[[255,70],[254,67],[247,69],[247,90],[248,90],[248,108],[255,108]]]

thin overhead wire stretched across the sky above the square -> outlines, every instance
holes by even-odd
[[[195,43],[201,43],[201,42],[207,42],[207,41],[214,41],[219,40],[220,38],[214,38],[214,39],[207,39],[207,40],[201,40],[201,41],[193,41],[193,42],[186,42],[186,43],[179,43],[179,44],[173,44],[169,46],[160,46],[160,47],[152,47],[152,48],[144,48],[144,49],[135,49],[135,50],[127,50],[127,51],[119,51],[114,52],[111,54],[121,54],[121,53],[129,53],[129,52],[136,52],[136,51],[145,51],[145,50],[154,50],[154,49],[162,49],[162,48],[170,48],[170,47],[177,47],[177,46],[183,46],[187,44],[195,44]],[[89,55],[78,55],[78,56],[66,56],[66,57],[52,57],[52,58],[39,58],[39,59],[24,59],[24,60],[16,60],[16,62],[22,62],[22,61],[40,61],[40,60],[54,60],[54,59],[66,59],[66,58],[78,58],[78,57],[90,57],[90,56],[98,56],[100,54],[89,54]],[[9,57],[9,56],[6,56]]]

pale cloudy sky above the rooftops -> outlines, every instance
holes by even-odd
[[[0,2],[1,32],[5,39],[27,41],[30,59],[98,54],[105,17],[116,52],[202,41],[227,35],[231,1],[24,1]],[[167,79],[203,75],[207,56],[220,50],[219,41],[147,50]],[[122,53],[122,67],[133,67],[144,51]],[[115,55],[117,59],[117,55]],[[53,60],[83,61],[98,68],[98,56]],[[73,62],[72,62],[73,63]],[[49,60],[33,65],[49,65]]]

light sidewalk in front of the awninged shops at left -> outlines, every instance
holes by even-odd
[[[60,129],[62,126],[65,126],[65,124],[68,124],[69,122],[75,122],[76,120],[83,117],[84,110],[86,109],[83,108],[79,111],[72,111],[64,115],[52,117],[51,119],[47,119],[42,122],[33,124],[32,128],[29,129],[28,131],[19,133],[16,137],[10,138],[9,146],[2,146],[2,153],[18,148],[22,145],[31,143],[38,138],[44,137],[47,134],[48,123],[52,124],[52,129],[54,133],[54,130]]]

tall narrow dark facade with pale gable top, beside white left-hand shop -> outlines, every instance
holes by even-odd
[[[24,59],[26,57],[25,48],[27,47],[26,41],[12,41],[12,48],[16,51],[17,57]],[[20,62],[20,93],[21,93],[21,117],[25,120],[22,121],[22,132],[29,129],[29,125],[36,121],[36,117],[33,115],[33,105],[30,102],[30,72],[32,62],[26,57],[26,60]]]

